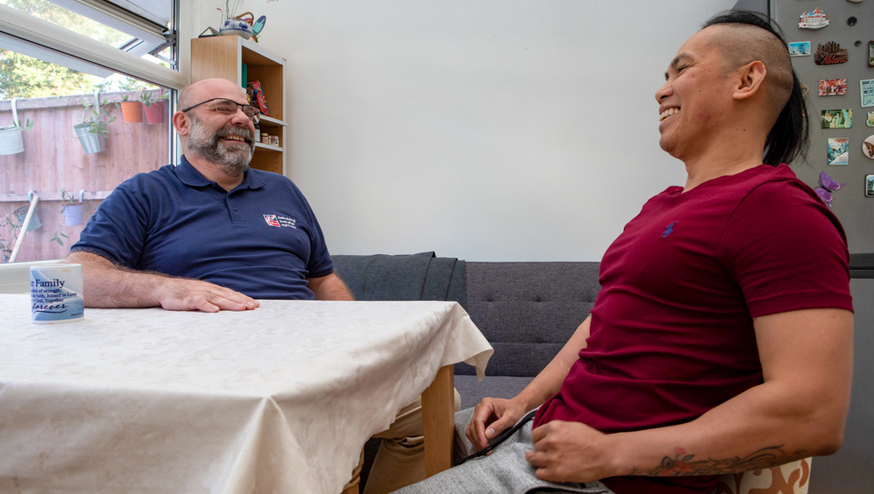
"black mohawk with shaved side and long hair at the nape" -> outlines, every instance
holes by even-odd
[[[767,15],[742,10],[715,15],[702,29],[711,26],[718,28],[711,43],[722,52],[726,72],[755,61],[765,65],[766,104],[773,125],[762,161],[776,167],[803,159],[809,137],[807,110],[780,28]]]

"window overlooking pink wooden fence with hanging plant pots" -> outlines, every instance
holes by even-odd
[[[173,162],[175,5],[136,1],[0,0],[0,261],[65,257],[119,183]]]

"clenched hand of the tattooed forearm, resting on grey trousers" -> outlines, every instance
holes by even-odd
[[[538,479],[591,482],[617,475],[610,465],[608,435],[580,422],[553,420],[531,432],[534,450],[525,453]]]

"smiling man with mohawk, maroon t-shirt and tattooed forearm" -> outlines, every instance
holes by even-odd
[[[540,407],[524,453],[537,479],[706,494],[715,475],[828,455],[843,438],[847,243],[781,164],[807,143],[786,43],[760,16],[717,16],[665,78],[660,144],[685,186],[647,201],[612,243],[591,316],[550,365],[519,396],[484,399],[468,427],[484,448]],[[404,492],[530,489],[498,460],[470,463]]]

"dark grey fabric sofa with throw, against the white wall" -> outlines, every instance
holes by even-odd
[[[435,256],[335,255],[336,273],[357,300],[453,300],[495,348],[486,379],[458,364],[461,407],[516,396],[586,317],[601,288],[599,262],[465,262]],[[362,485],[379,443],[365,447]]]

